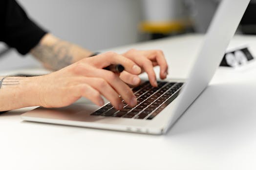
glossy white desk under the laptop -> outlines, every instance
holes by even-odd
[[[115,49],[162,49],[173,77],[186,77],[202,36]],[[236,36],[232,46],[255,36]],[[0,170],[255,170],[256,67],[218,69],[166,136],[25,122],[0,116]]]

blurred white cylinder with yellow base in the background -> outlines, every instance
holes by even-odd
[[[142,0],[144,21],[139,30],[147,34],[185,33],[191,27],[187,11],[181,0]]]

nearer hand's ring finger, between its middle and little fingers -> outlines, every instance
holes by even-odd
[[[118,110],[123,108],[123,104],[117,92],[102,78],[88,78],[85,77],[86,84],[91,85],[99,91],[111,104]]]

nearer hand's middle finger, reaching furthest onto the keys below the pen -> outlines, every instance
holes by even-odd
[[[137,99],[134,96],[132,90],[126,85],[118,75],[112,71],[104,69],[94,69],[93,72],[90,71],[86,76],[100,77],[107,81],[109,85],[127,102],[130,106],[135,106],[137,104]]]

